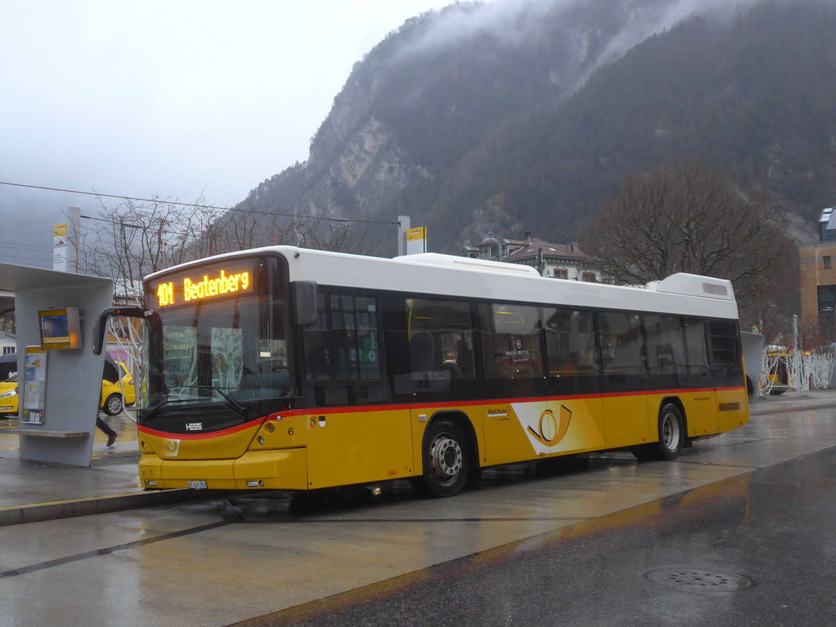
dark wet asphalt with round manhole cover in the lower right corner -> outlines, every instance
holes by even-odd
[[[240,625],[836,624],[836,448]]]

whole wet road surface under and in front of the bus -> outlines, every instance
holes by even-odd
[[[0,627],[836,624],[836,407],[672,462],[484,475],[439,500],[392,482],[2,527]]]

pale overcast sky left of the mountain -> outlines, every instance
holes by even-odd
[[[0,181],[231,206],[308,158],[375,43],[449,3],[0,0]],[[0,262],[50,268],[66,206],[98,211],[0,185]]]

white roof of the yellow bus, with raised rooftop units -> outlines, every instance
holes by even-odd
[[[441,297],[485,298],[737,319],[732,283],[725,279],[676,273],[640,287],[584,283],[544,278],[529,266],[436,252],[387,259],[273,246],[184,263],[151,274],[148,278],[196,264],[264,253],[278,253],[287,258],[291,281],[316,281],[321,285],[342,288],[384,289]]]

